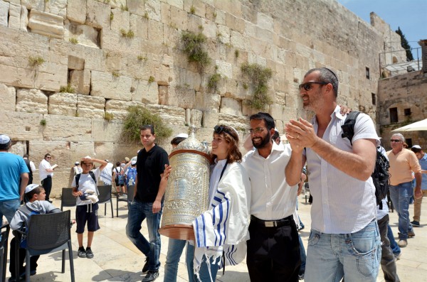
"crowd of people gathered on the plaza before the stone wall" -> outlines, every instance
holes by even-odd
[[[243,261],[251,281],[376,281],[381,266],[386,281],[400,281],[396,269],[394,237],[389,226],[387,200],[377,205],[371,178],[380,139],[374,122],[359,114],[352,140],[342,137],[346,113],[337,105],[338,78],[326,67],[309,70],[299,85],[304,109],[315,113],[311,121],[291,119],[285,124],[287,144],[280,141],[273,116],[258,112],[249,117],[248,153],[239,151],[238,131],[218,124],[212,131],[209,209],[193,221],[194,241],[169,239],[164,281],[176,281],[179,257],[186,246],[189,281],[215,281],[227,265]],[[177,146],[188,137],[172,139]],[[140,128],[142,149],[137,157],[117,162],[86,156],[73,170],[76,197],[78,256],[93,258],[91,249],[97,221],[97,182],[112,183],[116,192],[135,185],[126,234],[146,257],[142,281],[159,276],[159,234],[164,192],[173,167],[167,152],[157,145],[154,126]],[[420,146],[403,148],[404,136],[391,136],[391,151],[384,153],[390,165],[390,197],[399,215],[399,242],[404,248],[420,226],[421,202],[427,194],[427,155]],[[28,185],[34,165],[7,153],[11,140],[0,135],[0,217],[12,229],[30,220],[19,207],[57,212],[48,201],[55,166],[46,154],[39,166],[41,185]],[[94,163],[99,166],[94,169]],[[6,177],[6,178],[5,178]],[[297,217],[297,195],[305,178],[312,195],[311,230],[307,255],[298,234],[303,224]],[[415,187],[413,187],[413,178]],[[6,180],[7,183],[6,183]],[[413,190],[415,188],[415,190]],[[414,196],[414,217],[408,205]],[[18,210],[18,212],[16,212]],[[149,237],[140,232],[147,221]],[[21,222],[17,224],[17,222]],[[85,225],[87,246],[83,246]],[[390,239],[389,239],[390,238]],[[36,267],[36,263],[33,264]],[[11,266],[14,270],[17,266]],[[21,270],[21,265],[19,266]],[[31,270],[36,273],[36,269]],[[12,277],[9,281],[16,281]]]

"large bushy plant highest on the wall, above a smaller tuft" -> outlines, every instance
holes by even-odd
[[[184,31],[181,40],[189,62],[196,63],[199,70],[203,70],[211,63],[211,58],[205,50],[206,36],[203,33]]]

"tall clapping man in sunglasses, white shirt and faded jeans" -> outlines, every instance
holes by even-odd
[[[376,281],[381,239],[371,179],[379,138],[374,122],[359,114],[352,142],[343,138],[346,116],[337,106],[338,78],[325,67],[309,70],[300,85],[312,122],[290,120],[285,126],[295,175],[307,161],[313,195],[312,229],[305,281]],[[289,166],[288,165],[288,166]]]

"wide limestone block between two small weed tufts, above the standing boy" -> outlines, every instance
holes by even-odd
[[[46,141],[91,141],[92,120],[72,116],[47,114],[46,126],[43,129],[43,140]],[[73,129],[73,130],[70,130]]]

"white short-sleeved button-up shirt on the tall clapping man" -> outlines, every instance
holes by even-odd
[[[352,145],[342,138],[341,126],[345,117],[339,114],[339,107],[331,115],[323,140],[340,150],[351,152]],[[313,126],[317,132],[316,117]],[[354,124],[353,143],[357,139],[376,139],[374,122],[367,114],[359,114]],[[313,196],[311,208],[312,229],[328,234],[349,234],[363,229],[376,218],[375,186],[372,178],[357,180],[343,173],[307,148],[307,172],[310,193]]]

